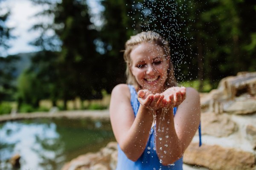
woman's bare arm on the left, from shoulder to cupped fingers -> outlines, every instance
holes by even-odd
[[[138,94],[144,96],[142,91]],[[163,95],[147,94],[140,103],[137,116],[131,107],[131,94],[128,85],[117,85],[111,94],[110,119],[114,135],[120,148],[132,161],[137,161],[148,142],[149,131],[153,122],[151,109],[160,105]]]

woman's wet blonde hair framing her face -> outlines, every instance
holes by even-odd
[[[173,64],[170,59],[170,48],[169,48],[169,42],[164,40],[158,33],[153,31],[148,32],[141,32],[137,35],[131,36],[130,40],[128,40],[125,43],[125,50],[124,50],[124,59],[126,62],[126,71],[125,74],[127,76],[126,83],[128,85],[134,85],[134,88],[136,90],[139,90],[141,87],[137,83],[136,78],[131,72],[130,66],[131,66],[131,51],[134,49],[134,45],[138,45],[139,43],[143,42],[151,42],[156,43],[156,45],[159,45],[163,48],[163,51],[165,52],[166,59],[169,60],[169,69],[167,69],[167,79],[165,82],[165,85],[167,88],[177,86],[177,81],[174,77],[174,71],[173,71]]]

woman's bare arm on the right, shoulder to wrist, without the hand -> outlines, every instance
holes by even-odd
[[[156,149],[163,165],[173,164],[181,158],[199,126],[199,94],[195,89],[187,88],[186,96],[178,106],[175,117],[172,107],[167,111],[165,120],[160,120],[162,109],[157,110],[157,128],[160,131],[157,130]]]

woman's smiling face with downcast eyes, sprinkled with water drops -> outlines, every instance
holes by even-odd
[[[151,42],[134,45],[131,51],[131,72],[143,89],[160,93],[167,79],[169,60],[162,47]]]

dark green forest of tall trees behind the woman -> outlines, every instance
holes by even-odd
[[[111,94],[126,80],[124,44],[141,31],[156,31],[169,41],[177,81],[200,92],[217,88],[224,77],[256,71],[254,0],[100,0],[103,10],[97,15],[86,0],[31,1],[47,6],[35,17],[53,22],[31,28],[41,31],[30,42],[41,51],[29,54],[31,64],[22,73],[15,64],[20,55],[0,57],[0,108],[8,112],[3,104],[8,101],[20,109],[61,100],[65,110],[68,100]],[[1,51],[13,38],[5,25],[9,15],[0,15]]]

